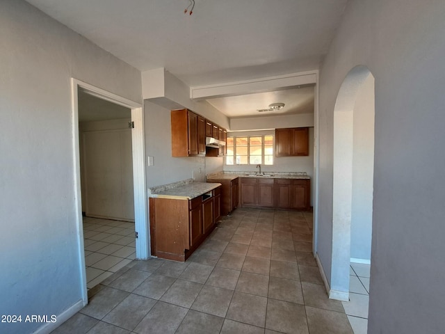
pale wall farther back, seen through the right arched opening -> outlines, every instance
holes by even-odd
[[[353,111],[353,200],[350,257],[371,260],[374,182],[374,78],[359,88]]]

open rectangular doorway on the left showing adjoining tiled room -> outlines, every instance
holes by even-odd
[[[86,283],[136,258],[131,109],[78,90]]]

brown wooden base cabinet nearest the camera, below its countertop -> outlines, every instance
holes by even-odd
[[[219,202],[220,186],[210,198],[149,198],[152,255],[187,260],[215,228]]]

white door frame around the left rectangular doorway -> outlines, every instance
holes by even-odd
[[[149,256],[149,235],[147,224],[147,189],[145,174],[145,131],[143,106],[138,102],[128,100],[119,95],[110,93],[102,88],[92,86],[86,82],[71,78],[72,86],[72,145],[74,161],[74,198],[76,206],[77,234],[79,236],[79,258],[81,271],[81,288],[83,289],[83,303],[88,303],[86,285],[85,251],[83,248],[83,222],[81,199],[81,166],[79,150],[79,100],[77,91],[80,88],[90,95],[102,100],[119,104],[131,109],[131,121],[134,128],[131,131],[131,145],[133,157],[133,193],[134,193],[134,221],[136,239],[136,258],[146,260]]]

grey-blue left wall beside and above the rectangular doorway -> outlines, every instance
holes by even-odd
[[[140,72],[24,1],[0,6],[0,314],[60,315],[83,299],[70,78],[140,102]]]

